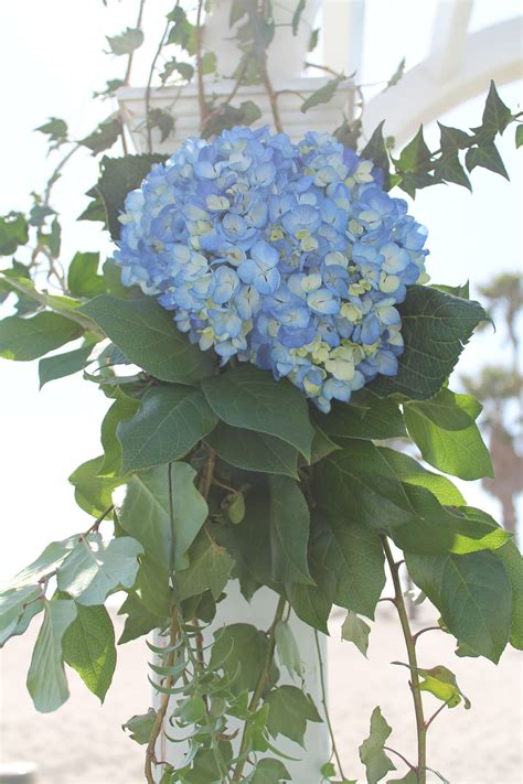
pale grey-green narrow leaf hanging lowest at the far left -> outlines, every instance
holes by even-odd
[[[41,713],[60,708],[68,696],[62,658],[62,638],[76,617],[72,600],[45,601],[44,620],[28,673],[28,691]]]

